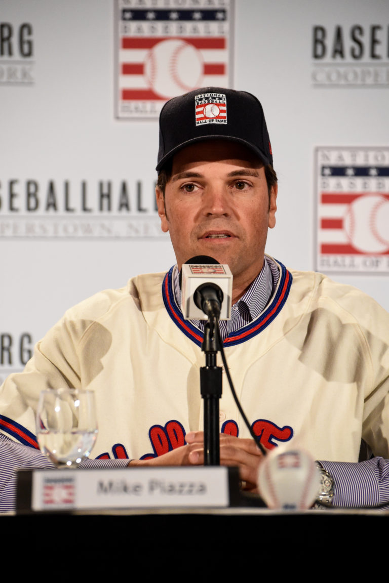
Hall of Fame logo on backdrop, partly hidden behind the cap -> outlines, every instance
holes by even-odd
[[[117,0],[117,117],[157,118],[163,104],[232,82],[233,0]]]

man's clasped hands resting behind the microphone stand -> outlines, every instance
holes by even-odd
[[[152,459],[133,459],[129,466],[198,466],[204,465],[204,433],[192,431],[187,433],[188,445],[177,447],[169,453]],[[238,466],[243,489],[257,489],[257,472],[262,453],[253,439],[220,434],[220,465]]]

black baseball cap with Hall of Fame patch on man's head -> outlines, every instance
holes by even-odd
[[[273,164],[264,110],[257,97],[246,91],[201,87],[164,104],[156,170],[185,146],[215,139],[239,142],[265,165]]]

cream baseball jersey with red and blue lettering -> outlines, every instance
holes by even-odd
[[[278,265],[267,308],[224,343],[255,433],[267,448],[293,443],[331,461],[358,461],[363,437],[388,458],[389,314],[353,287]],[[202,333],[183,320],[171,274],[68,310],[0,388],[1,431],[37,447],[39,393],[66,386],[96,394],[96,457],[160,455],[202,429]],[[248,437],[224,372],[220,429]]]

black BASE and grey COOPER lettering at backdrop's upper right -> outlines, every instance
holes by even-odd
[[[389,24],[316,25],[311,39],[314,87],[389,86]]]

